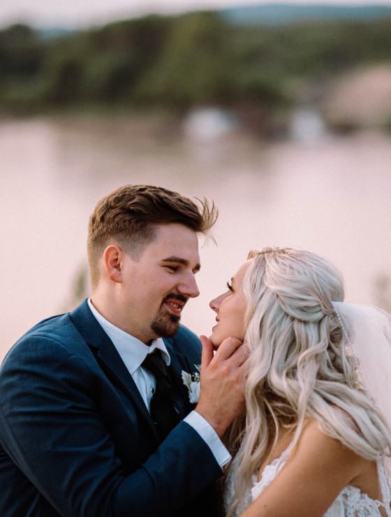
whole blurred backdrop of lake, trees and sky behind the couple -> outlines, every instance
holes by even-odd
[[[0,160],[0,357],[88,295],[89,214],[126,183],[219,207],[196,333],[265,245],[391,310],[391,1],[3,0]]]

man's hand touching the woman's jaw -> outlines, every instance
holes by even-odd
[[[221,437],[244,408],[245,361],[249,350],[237,337],[227,337],[213,355],[212,342],[202,343],[200,402],[195,411]]]

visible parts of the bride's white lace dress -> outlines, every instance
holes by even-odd
[[[282,467],[288,461],[292,445],[288,446],[279,458],[276,458],[270,465],[263,469],[260,481],[257,481],[257,476],[253,476],[253,486],[251,493],[249,492],[244,501],[239,504],[237,508],[237,516],[239,516],[249,504],[256,500],[256,498],[263,493],[263,490],[272,483],[273,479],[279,474]],[[377,517],[381,516],[379,508],[385,508],[385,513],[391,517],[391,489],[388,483],[387,474],[381,461],[378,461],[378,477],[381,484],[381,493],[383,502],[371,499],[367,494],[361,492],[360,488],[355,486],[346,486],[341,490],[338,497],[332,503],[331,507],[326,511],[323,517]],[[230,506],[234,495],[233,479],[237,464],[235,460],[230,465],[227,475],[226,490],[224,494],[224,502],[226,509]]]

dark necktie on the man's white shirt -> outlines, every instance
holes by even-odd
[[[156,379],[156,389],[151,400],[151,416],[158,436],[164,439],[180,420],[172,402],[172,384],[168,369],[158,350],[147,355],[142,367],[149,370]]]

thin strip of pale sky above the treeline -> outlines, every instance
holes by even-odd
[[[85,27],[146,13],[179,13],[251,3],[391,5],[391,0],[1,0],[0,26],[25,22],[36,27]]]

